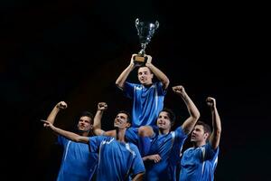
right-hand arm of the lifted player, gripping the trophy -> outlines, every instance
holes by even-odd
[[[160,71],[157,67],[154,66],[154,64],[152,63],[153,58],[150,55],[146,54],[145,56],[147,56],[148,58],[147,62],[145,63],[145,66],[148,67],[154,73],[156,78],[163,83],[163,88],[164,90],[166,90],[170,83],[169,79],[167,78],[163,71]]]

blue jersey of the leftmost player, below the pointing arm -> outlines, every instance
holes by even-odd
[[[64,148],[58,181],[90,180],[98,165],[98,154],[91,153],[89,145],[58,137]]]

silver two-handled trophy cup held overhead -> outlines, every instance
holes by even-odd
[[[158,21],[155,24],[139,22],[139,19],[135,19],[135,27],[137,29],[137,35],[139,36],[139,43],[141,44],[141,50],[134,56],[134,62],[136,64],[144,64],[147,61],[145,57],[145,48],[155,33],[155,30],[159,27]]]

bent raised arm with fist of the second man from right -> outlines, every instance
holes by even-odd
[[[197,120],[200,118],[200,111],[197,109],[193,101],[187,95],[182,85],[174,86],[173,91],[182,97],[182,100],[186,104],[190,117],[182,123],[182,129],[185,134],[190,134],[194,128]]]

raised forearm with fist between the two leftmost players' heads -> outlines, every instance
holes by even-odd
[[[104,130],[101,129],[101,119],[104,113],[104,110],[107,110],[107,103],[106,102],[98,102],[98,110],[94,117],[93,122],[93,132],[95,135],[103,135]]]

